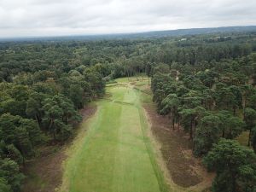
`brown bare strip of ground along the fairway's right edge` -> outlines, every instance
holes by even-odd
[[[201,160],[192,154],[192,143],[182,130],[172,130],[170,120],[156,113],[154,104],[143,105],[151,121],[154,137],[160,143],[160,151],[166,162],[172,181],[177,185],[205,189],[212,183],[212,175],[201,166]],[[194,187],[193,187],[194,186]]]

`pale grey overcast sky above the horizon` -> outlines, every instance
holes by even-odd
[[[0,0],[0,38],[256,25],[256,0]]]

